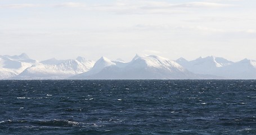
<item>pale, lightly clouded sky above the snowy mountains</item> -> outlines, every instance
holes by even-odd
[[[0,55],[256,60],[255,0],[0,0]]]

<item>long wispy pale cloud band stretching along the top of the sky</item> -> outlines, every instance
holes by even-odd
[[[109,12],[116,14],[154,14],[154,13],[188,13],[187,8],[221,8],[231,7],[231,4],[211,2],[169,3],[157,1],[124,1],[110,4],[61,3],[55,7],[83,8],[89,11]]]

